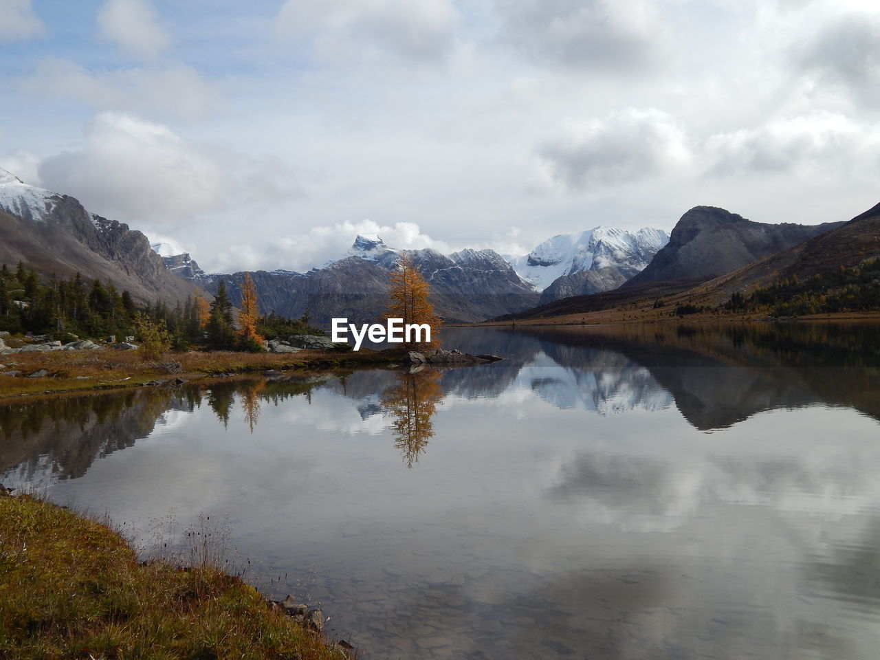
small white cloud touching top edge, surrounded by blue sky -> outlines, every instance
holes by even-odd
[[[98,11],[98,27],[101,36],[138,57],[157,57],[171,44],[146,0],[106,0]]]

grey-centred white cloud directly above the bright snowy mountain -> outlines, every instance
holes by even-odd
[[[686,136],[659,110],[612,113],[571,122],[537,154],[550,179],[569,190],[595,190],[675,172],[690,163]]]

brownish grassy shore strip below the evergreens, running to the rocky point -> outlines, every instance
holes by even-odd
[[[138,351],[113,348],[18,353],[0,356],[0,400],[23,395],[130,387],[221,373],[356,369],[400,363],[400,358],[400,352],[369,349],[346,352],[302,350],[290,354],[190,351],[171,353],[158,362],[144,360]],[[40,370],[46,370],[46,374],[28,378]],[[9,371],[18,371],[18,376],[3,375]]]

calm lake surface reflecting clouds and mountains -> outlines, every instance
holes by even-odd
[[[507,359],[0,407],[0,480],[224,521],[368,658],[874,658],[878,334],[450,329]]]

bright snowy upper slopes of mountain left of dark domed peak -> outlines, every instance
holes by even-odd
[[[548,238],[531,253],[511,257],[510,265],[537,290],[545,290],[560,277],[583,270],[626,267],[638,272],[668,242],[659,229],[630,232],[598,226]]]

